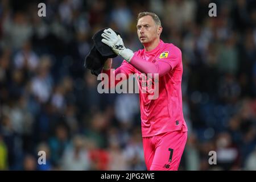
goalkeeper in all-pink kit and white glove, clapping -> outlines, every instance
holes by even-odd
[[[183,65],[180,49],[160,39],[162,29],[156,14],[139,13],[137,34],[144,49],[137,52],[125,48],[122,38],[111,28],[104,30],[101,41],[124,60],[112,72],[112,59],[108,59],[102,72],[109,77],[118,73],[124,73],[126,77],[130,73],[158,74],[157,99],[150,100],[150,93],[139,92],[144,159],[148,170],[177,170],[187,142],[181,94]],[[142,80],[138,82],[141,90]]]

